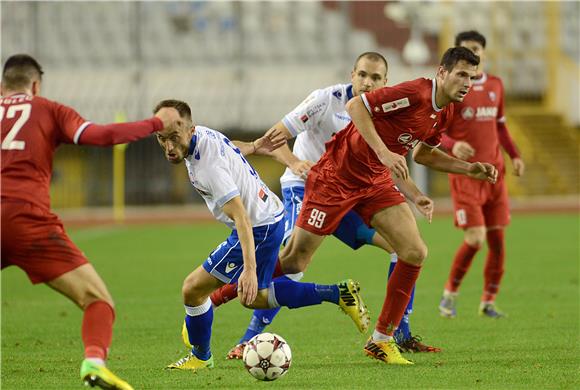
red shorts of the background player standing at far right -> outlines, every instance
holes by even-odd
[[[455,208],[455,226],[507,226],[510,222],[509,200],[504,176],[497,183],[449,175]]]

